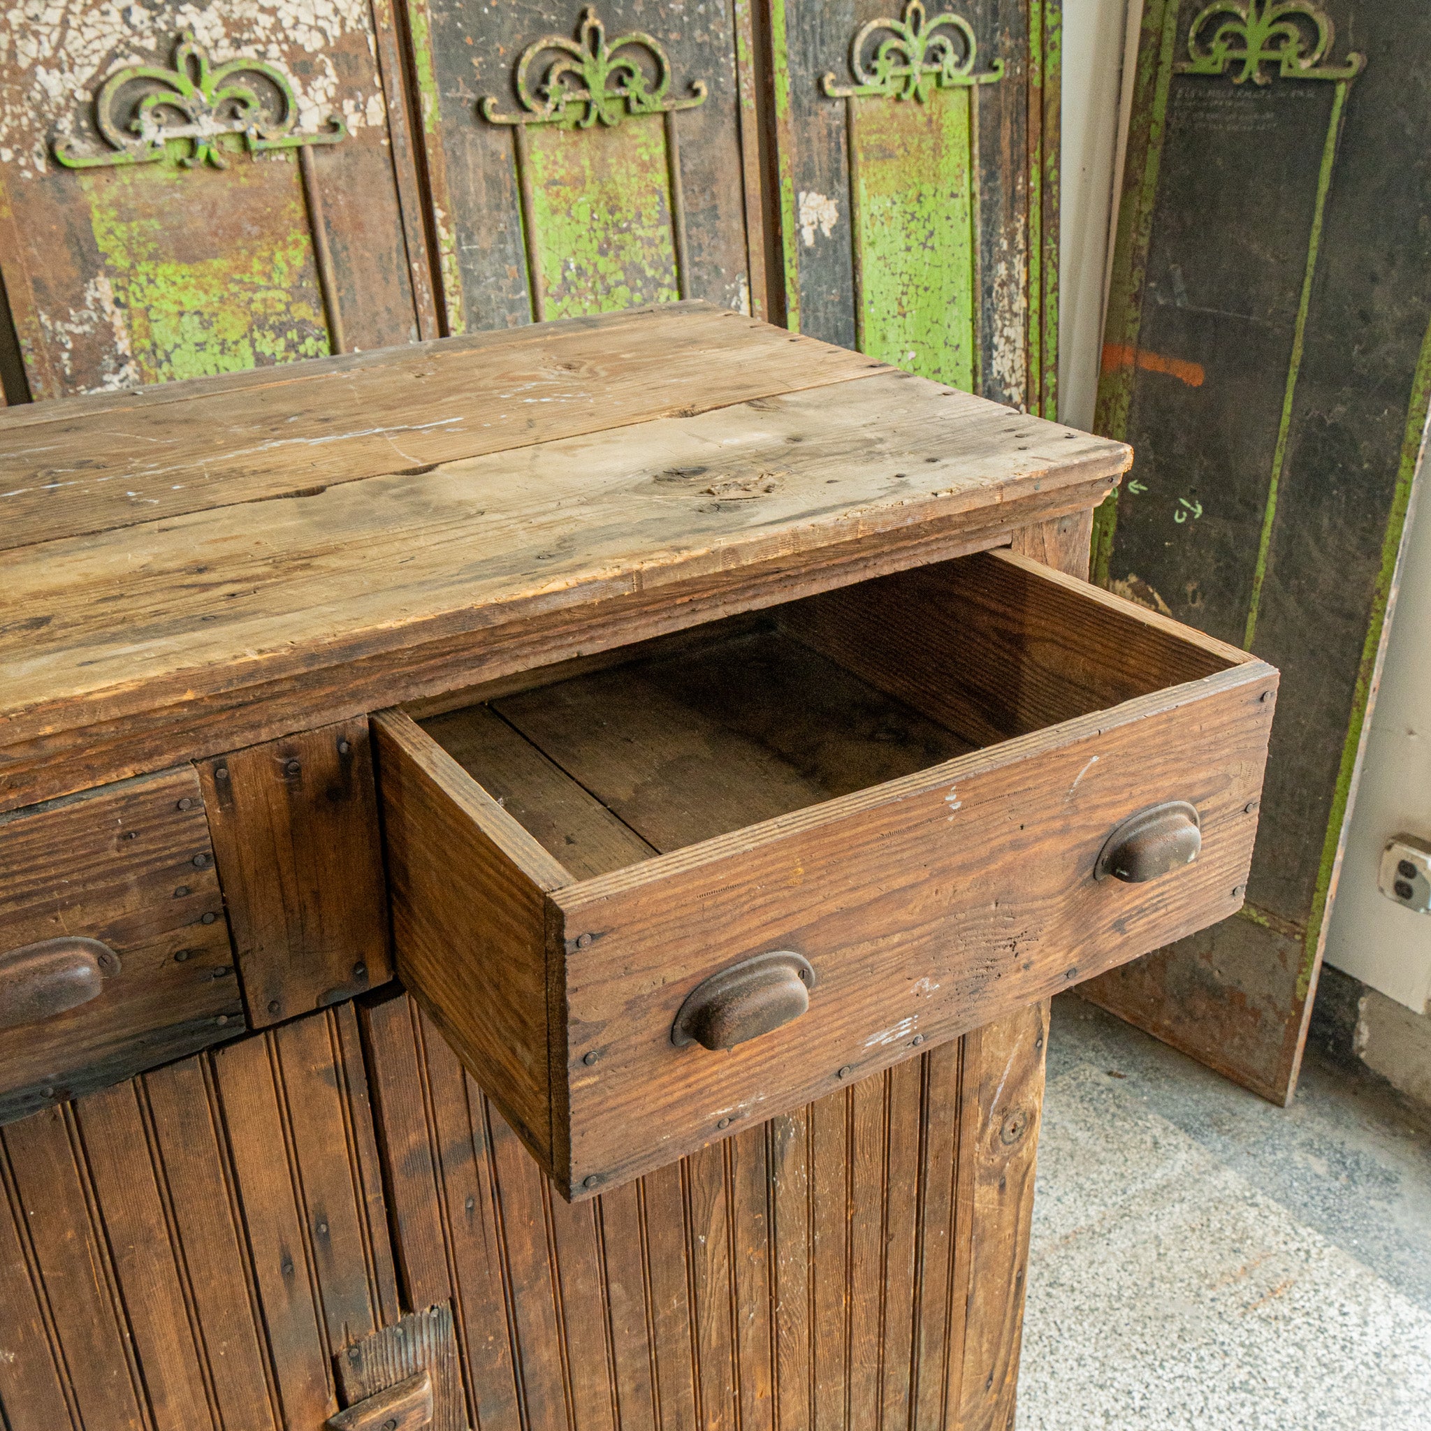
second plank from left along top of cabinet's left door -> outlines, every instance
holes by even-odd
[[[76,1115],[156,1431],[218,1427],[137,1090],[119,1083],[83,1099]]]

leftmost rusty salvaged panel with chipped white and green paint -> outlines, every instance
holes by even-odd
[[[0,272],[30,396],[432,336],[388,0],[20,24]]]

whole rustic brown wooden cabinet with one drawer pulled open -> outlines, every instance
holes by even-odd
[[[17,1069],[11,1425],[308,1431],[418,1395],[409,1334],[469,1425],[1007,1425],[1046,995],[1236,907],[1276,687],[1039,565],[1082,570],[1126,448],[703,303],[0,435],[16,937],[62,917],[127,976],[133,927],[170,990],[209,969],[186,919],[233,950],[195,1042],[116,1060],[107,980],[59,1015],[104,1030],[66,1083]],[[57,448],[93,465],[52,508]],[[1191,867],[1095,877],[1176,801]],[[675,1047],[771,943],[809,1012]]]

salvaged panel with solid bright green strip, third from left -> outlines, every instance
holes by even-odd
[[[788,323],[1053,416],[1058,0],[770,0]]]

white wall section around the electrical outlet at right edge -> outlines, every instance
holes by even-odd
[[[1422,456],[1421,481],[1427,481]],[[1431,499],[1415,501],[1381,694],[1355,791],[1327,960],[1417,1013],[1431,1013],[1431,914],[1377,889],[1394,834],[1431,839]]]

